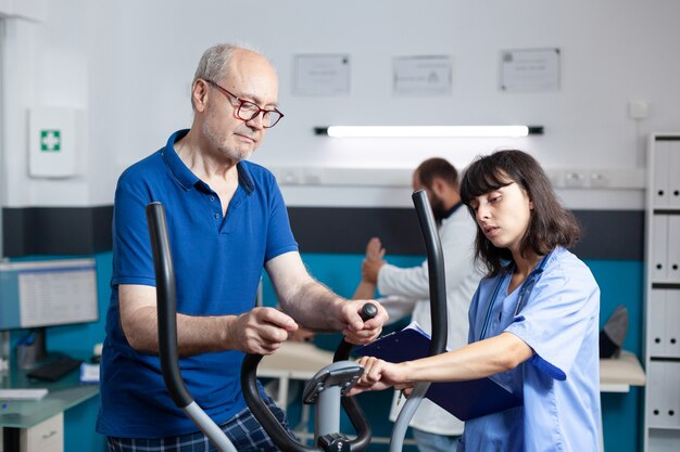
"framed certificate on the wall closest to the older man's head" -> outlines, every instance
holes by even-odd
[[[350,55],[295,55],[297,95],[350,93]]]

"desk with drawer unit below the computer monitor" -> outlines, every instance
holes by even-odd
[[[34,382],[26,378],[26,372],[13,370],[3,375],[3,388],[47,388],[48,395],[41,400],[0,400],[0,427],[4,452],[55,451],[64,450],[63,413],[99,393],[99,385],[81,385],[77,371],[59,382]],[[43,429],[43,434],[40,430]],[[36,434],[38,448],[28,448]]]

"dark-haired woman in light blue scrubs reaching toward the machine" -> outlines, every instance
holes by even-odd
[[[489,376],[524,404],[467,421],[458,452],[597,450],[600,288],[567,250],[580,235],[576,219],[521,151],[478,157],[461,185],[487,268],[470,305],[469,344],[403,363],[364,357],[353,393]]]

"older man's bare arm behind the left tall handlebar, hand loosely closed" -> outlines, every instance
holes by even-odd
[[[156,292],[146,285],[118,286],[121,326],[129,345],[147,353],[159,352]],[[270,354],[298,324],[273,308],[255,308],[241,315],[177,314],[179,356],[242,350]]]

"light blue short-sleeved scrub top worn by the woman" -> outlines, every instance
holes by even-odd
[[[509,272],[482,280],[475,294],[469,341],[480,340],[487,322],[484,337],[512,333],[534,354],[493,376],[522,397],[524,406],[466,422],[459,452],[599,450],[600,288],[588,267],[562,247],[534,276],[517,314],[521,287],[507,293]]]

